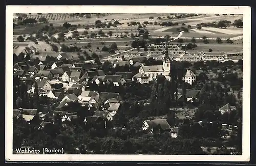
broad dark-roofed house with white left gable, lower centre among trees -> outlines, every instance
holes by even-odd
[[[159,126],[159,128],[158,128]],[[154,120],[146,120],[143,122],[142,126],[143,130],[150,129],[151,131],[162,130],[162,131],[170,131],[172,128],[166,119],[154,119]]]

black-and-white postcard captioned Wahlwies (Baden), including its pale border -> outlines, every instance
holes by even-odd
[[[6,160],[248,161],[250,17],[8,6]]]

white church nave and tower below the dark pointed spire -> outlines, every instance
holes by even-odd
[[[163,65],[154,65],[154,66],[141,66],[139,73],[143,73],[148,76],[149,80],[155,80],[158,75],[164,75],[166,79],[170,79],[170,61],[164,60]]]

